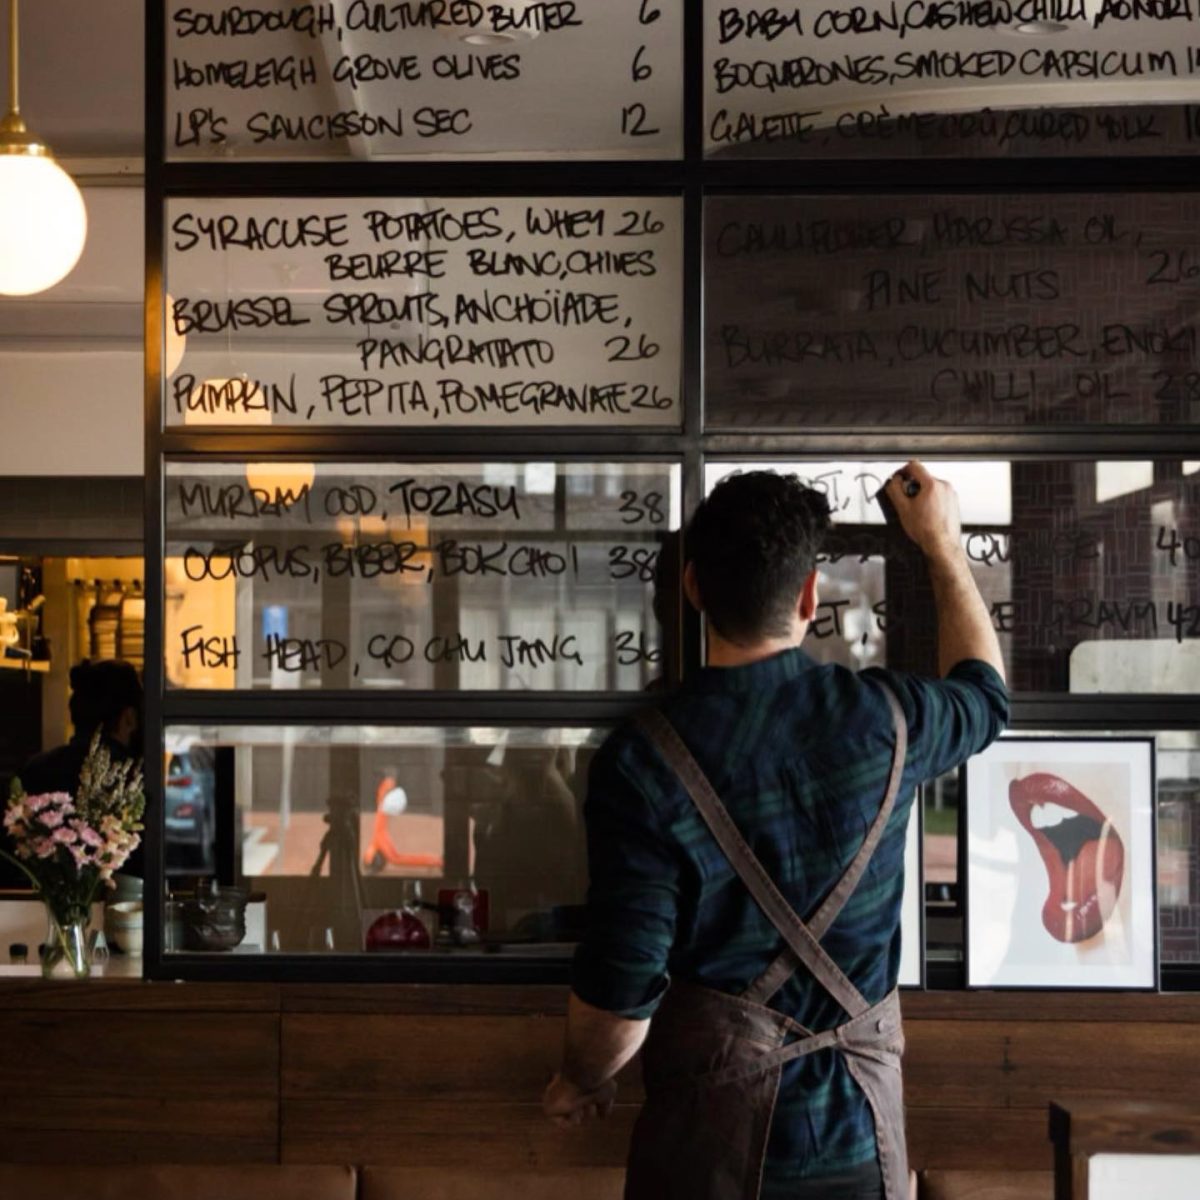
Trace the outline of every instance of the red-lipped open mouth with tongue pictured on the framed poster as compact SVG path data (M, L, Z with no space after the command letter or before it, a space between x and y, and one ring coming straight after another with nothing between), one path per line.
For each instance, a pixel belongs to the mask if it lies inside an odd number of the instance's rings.
M1049 876L1042 924L1060 942L1104 929L1124 882L1124 845L1097 805L1064 779L1039 772L1015 779L1008 803L1038 847Z

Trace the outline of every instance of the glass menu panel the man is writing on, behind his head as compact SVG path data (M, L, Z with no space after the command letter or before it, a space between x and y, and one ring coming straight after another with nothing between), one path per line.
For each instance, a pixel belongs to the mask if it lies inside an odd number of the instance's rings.
M805 648L851 667L936 671L920 552L874 496L900 463L713 463L798 474L829 498L822 604ZM1193 694L1200 680L1200 463L932 462L1014 691Z

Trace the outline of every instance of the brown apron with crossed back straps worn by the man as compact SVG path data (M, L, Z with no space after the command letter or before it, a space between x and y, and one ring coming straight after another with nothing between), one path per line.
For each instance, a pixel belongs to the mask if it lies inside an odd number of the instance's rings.
M845 1057L870 1104L884 1196L908 1195L899 995L893 990L869 1004L821 948L883 836L900 787L908 730L895 696L887 691L887 698L895 750L883 803L845 875L808 922L772 882L671 722L656 710L638 718L785 949L740 996L690 983L667 991L642 1051L647 1098L634 1128L625 1200L757 1200L784 1064L823 1049ZM800 965L850 1015L845 1024L815 1032L767 1007Z

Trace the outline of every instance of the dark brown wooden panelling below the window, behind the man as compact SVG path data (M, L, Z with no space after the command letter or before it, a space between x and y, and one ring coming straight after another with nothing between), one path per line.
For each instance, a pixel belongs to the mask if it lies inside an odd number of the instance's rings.
M503 985L0 979L0 1160L619 1164L640 1097L541 1116L566 994ZM911 992L918 1168L1050 1170L1051 1099L1170 1099L1200 1074L1200 995Z

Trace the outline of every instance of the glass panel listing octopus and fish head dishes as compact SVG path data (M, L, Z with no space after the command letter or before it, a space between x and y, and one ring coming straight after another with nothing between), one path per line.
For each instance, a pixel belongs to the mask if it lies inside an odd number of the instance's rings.
M168 685L637 691L679 492L672 463L170 462Z

